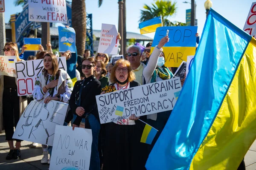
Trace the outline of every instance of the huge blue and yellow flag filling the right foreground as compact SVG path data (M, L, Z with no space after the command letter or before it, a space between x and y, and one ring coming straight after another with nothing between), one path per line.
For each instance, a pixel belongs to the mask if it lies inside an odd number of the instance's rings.
M148 170L236 170L256 138L256 40L214 10Z

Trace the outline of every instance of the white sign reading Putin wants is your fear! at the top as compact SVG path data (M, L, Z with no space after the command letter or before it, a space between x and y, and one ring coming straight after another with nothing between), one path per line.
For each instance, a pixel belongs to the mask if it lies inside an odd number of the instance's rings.
M66 0L29 0L29 21L67 24Z

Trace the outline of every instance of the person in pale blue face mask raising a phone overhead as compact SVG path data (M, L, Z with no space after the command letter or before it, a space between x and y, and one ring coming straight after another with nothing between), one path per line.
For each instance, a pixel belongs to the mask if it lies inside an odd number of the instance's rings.
M163 54L163 46L169 41L169 37L163 37L159 44L154 48L150 59L148 60L147 66L143 70L143 75L145 77L146 83L159 82L166 79L171 79L173 77L172 72L169 68L165 67L165 58ZM147 115L147 122L149 125L153 126L159 132L154 137L153 142L149 145L149 151L152 150L155 142L160 136L167 120L169 119L171 111L165 111L161 113L154 113Z

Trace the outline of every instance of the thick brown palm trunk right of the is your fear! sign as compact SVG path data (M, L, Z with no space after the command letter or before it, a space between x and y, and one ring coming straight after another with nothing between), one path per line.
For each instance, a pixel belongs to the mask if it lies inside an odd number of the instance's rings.
M85 0L72 0L72 27L76 31L77 54L83 56L86 41Z

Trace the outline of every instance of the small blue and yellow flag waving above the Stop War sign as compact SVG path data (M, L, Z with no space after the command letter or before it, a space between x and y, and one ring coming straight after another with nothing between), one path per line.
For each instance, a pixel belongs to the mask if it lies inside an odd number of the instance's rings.
M163 26L162 17L156 17L151 20L144 21L139 23L140 34L146 34L155 32L157 27Z

